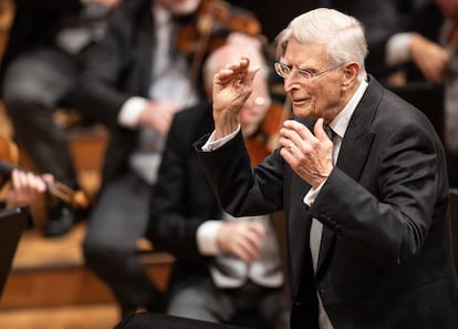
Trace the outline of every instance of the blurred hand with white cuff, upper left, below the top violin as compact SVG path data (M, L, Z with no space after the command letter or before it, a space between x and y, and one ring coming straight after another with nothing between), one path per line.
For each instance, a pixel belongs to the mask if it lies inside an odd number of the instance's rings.
M150 101L138 116L139 126L149 126L167 135L178 107L167 101Z

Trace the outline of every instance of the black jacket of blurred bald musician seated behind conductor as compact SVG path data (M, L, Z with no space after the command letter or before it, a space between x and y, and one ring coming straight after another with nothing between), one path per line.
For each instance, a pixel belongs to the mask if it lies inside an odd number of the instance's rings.
M155 248L176 257L169 288L209 276L208 261L197 247L197 228L222 215L192 143L214 130L208 103L175 115L163 154L147 237Z

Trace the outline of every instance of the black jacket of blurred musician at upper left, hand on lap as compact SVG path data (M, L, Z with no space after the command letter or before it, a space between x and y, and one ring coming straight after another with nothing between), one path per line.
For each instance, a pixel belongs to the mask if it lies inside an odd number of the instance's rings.
M103 40L86 51L75 103L85 117L110 128L104 179L126 169L138 143L139 131L119 126L117 117L129 97L148 97L155 44L152 1L129 0L112 12Z

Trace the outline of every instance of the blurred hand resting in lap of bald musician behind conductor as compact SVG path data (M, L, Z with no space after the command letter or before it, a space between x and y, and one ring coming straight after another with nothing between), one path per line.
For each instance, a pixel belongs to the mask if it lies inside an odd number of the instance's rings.
M259 257L266 237L264 224L260 220L231 220L222 223L217 234L220 250L252 263Z

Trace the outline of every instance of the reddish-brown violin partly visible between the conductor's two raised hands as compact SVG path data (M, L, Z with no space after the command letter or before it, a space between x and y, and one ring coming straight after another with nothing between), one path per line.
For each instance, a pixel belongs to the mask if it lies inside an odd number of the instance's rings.
M251 165L261 163L278 146L280 127L291 116L288 103L273 102L258 131L246 138L244 144L250 154Z

